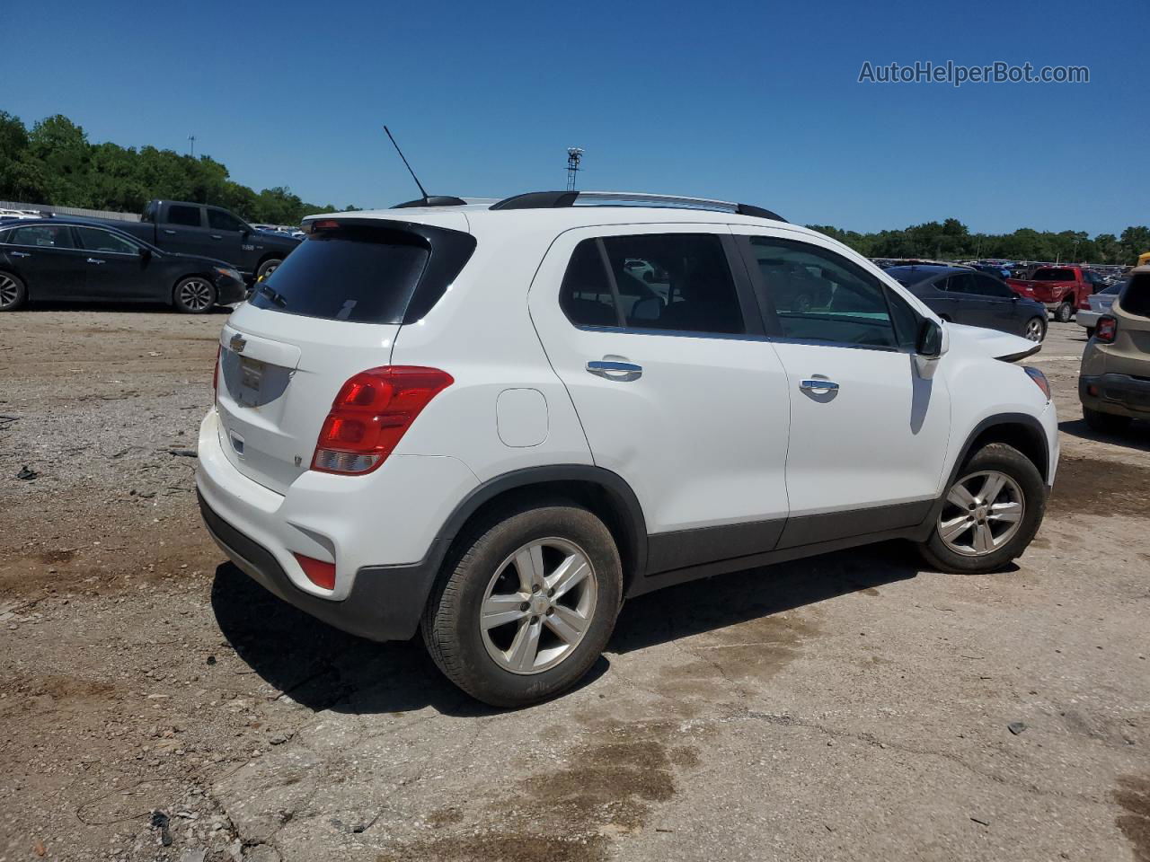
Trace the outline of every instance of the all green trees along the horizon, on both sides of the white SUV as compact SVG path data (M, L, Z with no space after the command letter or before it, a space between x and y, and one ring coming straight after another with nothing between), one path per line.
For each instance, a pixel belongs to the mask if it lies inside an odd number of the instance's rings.
M84 129L56 114L29 130L0 110L0 200L57 207L139 213L153 198L214 203L250 222L299 224L310 213L334 213L331 205L307 203L286 186L256 192L232 180L228 168L201 155L171 149L92 144ZM345 210L356 209L347 206ZM1130 226L1121 236L1086 231L971 233L957 218L926 222L877 233L810 225L867 257L929 257L1063 261L1130 265L1150 252L1150 228Z

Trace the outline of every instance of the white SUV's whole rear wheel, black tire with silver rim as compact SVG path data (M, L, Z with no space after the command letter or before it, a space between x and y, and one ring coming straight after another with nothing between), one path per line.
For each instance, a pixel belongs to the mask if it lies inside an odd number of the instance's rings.
M423 615L443 674L494 707L575 685L599 659L622 602L611 532L568 502L516 507L461 536Z

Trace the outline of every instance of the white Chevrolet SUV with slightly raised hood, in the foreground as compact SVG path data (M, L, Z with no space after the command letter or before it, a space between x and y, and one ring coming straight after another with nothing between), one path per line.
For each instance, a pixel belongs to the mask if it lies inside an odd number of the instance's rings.
M586 672L624 598L896 537L988 571L1038 529L1057 420L1011 364L1038 345L756 207L415 203L307 220L220 340L204 519L305 611L422 630L521 706Z

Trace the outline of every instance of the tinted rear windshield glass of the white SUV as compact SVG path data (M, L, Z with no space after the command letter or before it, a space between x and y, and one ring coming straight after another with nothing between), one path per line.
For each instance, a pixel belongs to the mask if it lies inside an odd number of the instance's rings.
M317 230L256 285L251 303L330 321L411 323L416 309L415 320L443 295L474 245L465 233L436 228Z

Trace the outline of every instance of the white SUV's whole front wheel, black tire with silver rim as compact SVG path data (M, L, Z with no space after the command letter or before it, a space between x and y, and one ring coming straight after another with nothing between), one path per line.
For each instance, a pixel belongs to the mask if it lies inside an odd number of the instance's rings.
M1021 556L1042 524L1046 488L1034 463L1002 442L966 460L919 548L940 571L979 575Z

